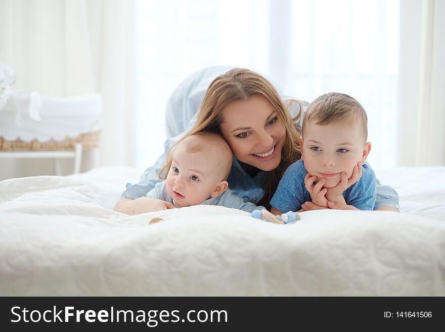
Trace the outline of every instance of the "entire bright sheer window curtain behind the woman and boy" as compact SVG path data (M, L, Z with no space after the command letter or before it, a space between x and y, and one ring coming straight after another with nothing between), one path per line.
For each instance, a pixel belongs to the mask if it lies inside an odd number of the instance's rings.
M398 1L136 1L137 165L162 152L168 97L206 66L247 67L307 102L339 91L369 117L370 162L396 162ZM374 167L375 167L374 166Z

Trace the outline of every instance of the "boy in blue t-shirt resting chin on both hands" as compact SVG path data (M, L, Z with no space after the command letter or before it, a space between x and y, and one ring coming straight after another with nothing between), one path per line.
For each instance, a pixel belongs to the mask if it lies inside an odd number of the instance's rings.
M367 122L362 105L347 94L330 92L312 102L303 121L301 159L284 172L272 213L297 211L307 201L373 210L376 178L365 164L371 151ZM360 171L361 178L350 185L348 179L359 177Z

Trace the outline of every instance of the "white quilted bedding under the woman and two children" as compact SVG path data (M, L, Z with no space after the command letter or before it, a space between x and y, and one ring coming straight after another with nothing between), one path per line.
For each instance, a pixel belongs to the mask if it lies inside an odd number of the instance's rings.
M445 167L376 173L403 213L284 226L215 206L114 212L130 168L5 180L0 295L445 296Z

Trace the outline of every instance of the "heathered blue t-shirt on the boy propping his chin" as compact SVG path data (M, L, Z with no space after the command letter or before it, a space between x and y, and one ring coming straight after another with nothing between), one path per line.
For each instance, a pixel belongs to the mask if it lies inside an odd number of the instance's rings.
M375 173L366 164L362 167L362 177L343 192L343 197L346 204L359 210L373 210L376 200ZM288 212L298 211L304 202L311 201L309 192L304 186L306 174L301 159L290 165L278 184L271 205L280 211Z

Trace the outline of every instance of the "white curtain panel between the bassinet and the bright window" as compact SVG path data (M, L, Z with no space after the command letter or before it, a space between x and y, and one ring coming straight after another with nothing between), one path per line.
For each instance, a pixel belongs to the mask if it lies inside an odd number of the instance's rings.
M101 166L135 166L135 2L83 0L104 101Z

